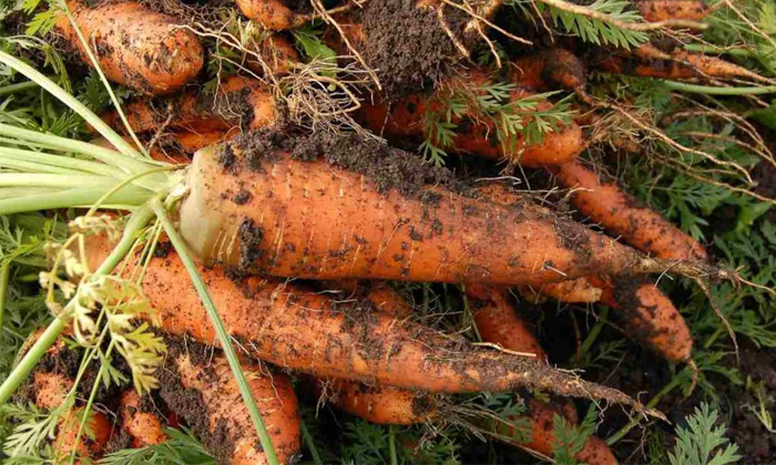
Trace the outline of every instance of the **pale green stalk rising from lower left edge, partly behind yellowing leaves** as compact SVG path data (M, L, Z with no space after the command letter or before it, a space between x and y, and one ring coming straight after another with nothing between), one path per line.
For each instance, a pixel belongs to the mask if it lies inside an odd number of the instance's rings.
M139 208L126 221L124 232L116 247L111 251L108 258L102 262L100 268L94 271L95 275L108 275L113 271L126 252L132 248L136 235L145 225L153 218L153 211L147 207ZM67 308L67 307L65 307ZM13 368L13 371L8 375L6 381L0 384L0 405L4 405L17 389L21 385L24 379L30 374L32 369L38 364L40 359L45 354L45 351L57 341L57 338L62 333L64 328L70 322L70 318L65 312L57 316L43 333L38 338L34 344L24 354L21 361Z

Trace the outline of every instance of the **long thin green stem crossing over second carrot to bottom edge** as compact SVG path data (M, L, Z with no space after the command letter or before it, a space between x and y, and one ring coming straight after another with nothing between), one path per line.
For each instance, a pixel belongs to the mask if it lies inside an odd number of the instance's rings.
M251 413L251 420L253 420L254 426L256 427L256 434L258 434L258 440L262 443L262 448L264 450L264 454L267 457L267 463L269 465L278 465L277 455L275 454L275 447L273 446L272 440L269 438L269 434L267 433L267 428L264 425L264 422L262 421L262 415L259 414L258 407L256 406L256 401L253 399L253 393L251 392L248 380L245 378L245 373L243 373L239 360L237 359L237 354L234 350L234 347L232 345L232 339L226 332L224 322L221 319L221 316L218 314L218 309L215 308L215 303L213 303L213 299L211 298L210 292L207 292L205 281L203 281L202 277L200 276L200 272L196 269L196 264L194 264L194 260L192 260L188 254L188 247L175 229L175 225L173 225L173 223L170 220L170 217L167 217L167 214L164 209L164 205L162 204L162 200L159 197L151 200L151 208L153 209L154 214L156 214L156 218L159 218L159 220L161 221L164 231L167 234L167 238L177 251L177 255L181 258L184 268L188 272L188 277L191 278L192 283L194 285L194 288L196 289L196 292L200 296L200 299L202 300L202 304L207 311L207 316L211 322L213 323L213 327L215 328L215 332L218 335L218 340L221 342L221 348L224 351L224 355L226 356L226 361L228 362L229 368L232 369L232 373L234 374L235 381L237 381L239 393L243 395L243 401L245 402L245 405L248 407L248 412Z

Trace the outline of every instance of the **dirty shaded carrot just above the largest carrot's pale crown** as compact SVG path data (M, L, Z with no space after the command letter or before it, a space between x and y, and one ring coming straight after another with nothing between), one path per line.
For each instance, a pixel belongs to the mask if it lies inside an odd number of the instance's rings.
M194 133L256 130L276 122L277 110L272 94L255 80L232 76L215 94L191 90L159 101L135 100L124 106L135 133L183 130ZM103 120L120 133L125 128L116 112Z

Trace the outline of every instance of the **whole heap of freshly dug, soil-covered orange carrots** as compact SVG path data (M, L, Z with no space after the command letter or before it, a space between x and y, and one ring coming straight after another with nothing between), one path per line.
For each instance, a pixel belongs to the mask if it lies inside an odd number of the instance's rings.
M499 28L491 20L501 3L471 9L442 0L371 0L324 11L317 1L302 8L284 0L237 0L234 8L266 33L259 58L236 65L226 60L234 74L208 80L217 82L208 92L200 84L223 63L205 50L214 33L192 25L194 19L131 1L73 0L57 13L55 30L85 65L99 65L109 81L135 91L123 105L126 121L116 108L101 117L129 144L135 144L130 133L147 144L147 158L122 155L147 170L133 169L135 178L120 185L94 182L104 194L101 206L137 211L164 199L173 224L166 235L151 235L159 241L155 254L135 248L114 271L137 280L153 309L152 317L137 318L166 341L155 373L160 388L142 394L126 385L101 391L113 415L90 412L92 433L76 438L85 403L71 395L74 373L34 371L24 390L29 401L52 412L64 399L72 401L51 438L58 455L85 462L112 452L109 443L156 446L170 441L167 428L183 425L217 463L270 462L242 407L229 368L237 363L222 351L228 348L186 278L184 255L196 261L224 330L242 349L241 369L280 463L303 454L297 391L371 423L405 426L462 415L463 395L517 393L510 399L524 401L523 413L466 422L541 457L555 452L559 417L579 423L563 397L619 403L662 417L623 392L554 368L521 318L547 299L603 304L635 343L694 366L691 331L655 285L656 276L736 277L586 161L585 151L596 143L588 124L604 107L588 94L588 72L706 83L768 80L684 49L647 42L583 53L570 38L552 46L532 38L530 46L510 51L503 62L499 58L500 69L474 65L471 51L493 46L487 31ZM700 21L709 13L694 0L633 0L630 8L655 23ZM312 39L299 38L307 38L309 30L300 28L312 20L324 24L321 38L340 54L341 68L328 61L329 68L310 71L319 56L304 42ZM418 25L404 31L402 21ZM81 37L93 46L84 46ZM226 56L235 51L233 42L216 46ZM361 73L353 71L359 69L354 63L365 66L365 78L350 92L335 78ZM295 80L303 72L305 80ZM294 93L289 85L316 92ZM313 122L289 120L300 107L314 118L330 116L314 102L326 92L333 99L347 94L355 106L343 113L363 127L320 131ZM579 99L568 106L561 97L573 94ZM542 120L559 108L573 113ZM118 135L96 137L106 131L96 118L90 123L100 153L126 151ZM514 127L521 130L510 133ZM431 166L411 152L421 144L464 156L456 157L456 169ZM517 169L542 178L549 198L569 208L539 203L525 192L530 186L518 192L471 176L494 173L497 164L506 178ZM47 197L44 206L91 206L63 202ZM27 211L20 205L8 210ZM170 247L173 230L185 242L178 251ZM103 234L79 244L90 270L115 246ZM468 328L451 334L417 318L415 302L388 281L458 287L470 312ZM73 350L60 339L45 355L47 366L61 368L61 360L76 356L68 351ZM520 431L520 424L529 426ZM616 463L595 436L575 458Z

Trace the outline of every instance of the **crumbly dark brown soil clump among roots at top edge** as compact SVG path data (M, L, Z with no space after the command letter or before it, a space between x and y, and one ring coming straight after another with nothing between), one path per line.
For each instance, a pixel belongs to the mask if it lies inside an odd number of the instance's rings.
M389 100L418 93L429 82L446 75L447 66L460 55L442 29L437 9L419 8L417 3L417 0L370 1L360 13L366 39L359 51L375 70ZM443 12L453 35L464 44L470 42L462 31L471 17L455 8L446 8Z

